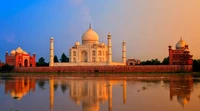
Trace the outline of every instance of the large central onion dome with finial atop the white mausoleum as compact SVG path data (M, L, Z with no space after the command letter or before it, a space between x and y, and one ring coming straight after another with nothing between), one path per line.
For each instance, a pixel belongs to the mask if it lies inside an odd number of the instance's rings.
M92 45L95 42L99 42L99 36L94 30L92 30L90 25L89 29L82 35L82 44Z

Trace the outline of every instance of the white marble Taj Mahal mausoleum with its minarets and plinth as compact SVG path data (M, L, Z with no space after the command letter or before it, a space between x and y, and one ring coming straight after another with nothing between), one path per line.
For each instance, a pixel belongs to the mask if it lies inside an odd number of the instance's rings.
M89 29L82 35L82 44L78 41L69 49L69 62L54 63L54 38L50 38L49 66L116 66L126 65L126 43L122 42L122 62L112 61L112 35L107 35L107 45L99 43L98 34Z

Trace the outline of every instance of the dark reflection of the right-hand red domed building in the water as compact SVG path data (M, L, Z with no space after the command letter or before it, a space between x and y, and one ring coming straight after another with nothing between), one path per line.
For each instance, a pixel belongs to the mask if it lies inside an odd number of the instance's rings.
M170 100L177 96L177 101L184 107L190 101L192 91L192 75L174 76L170 79Z

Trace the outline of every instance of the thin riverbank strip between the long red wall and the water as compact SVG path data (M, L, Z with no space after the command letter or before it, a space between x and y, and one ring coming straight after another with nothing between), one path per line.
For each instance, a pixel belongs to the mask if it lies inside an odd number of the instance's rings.
M2 73L1 78L46 78L51 77L59 79L176 79L177 77L200 78L200 73Z

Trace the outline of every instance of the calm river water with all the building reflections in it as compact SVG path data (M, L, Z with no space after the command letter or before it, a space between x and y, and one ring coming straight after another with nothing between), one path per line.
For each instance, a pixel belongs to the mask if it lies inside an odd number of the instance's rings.
M198 111L200 80L120 77L0 79L0 111Z

